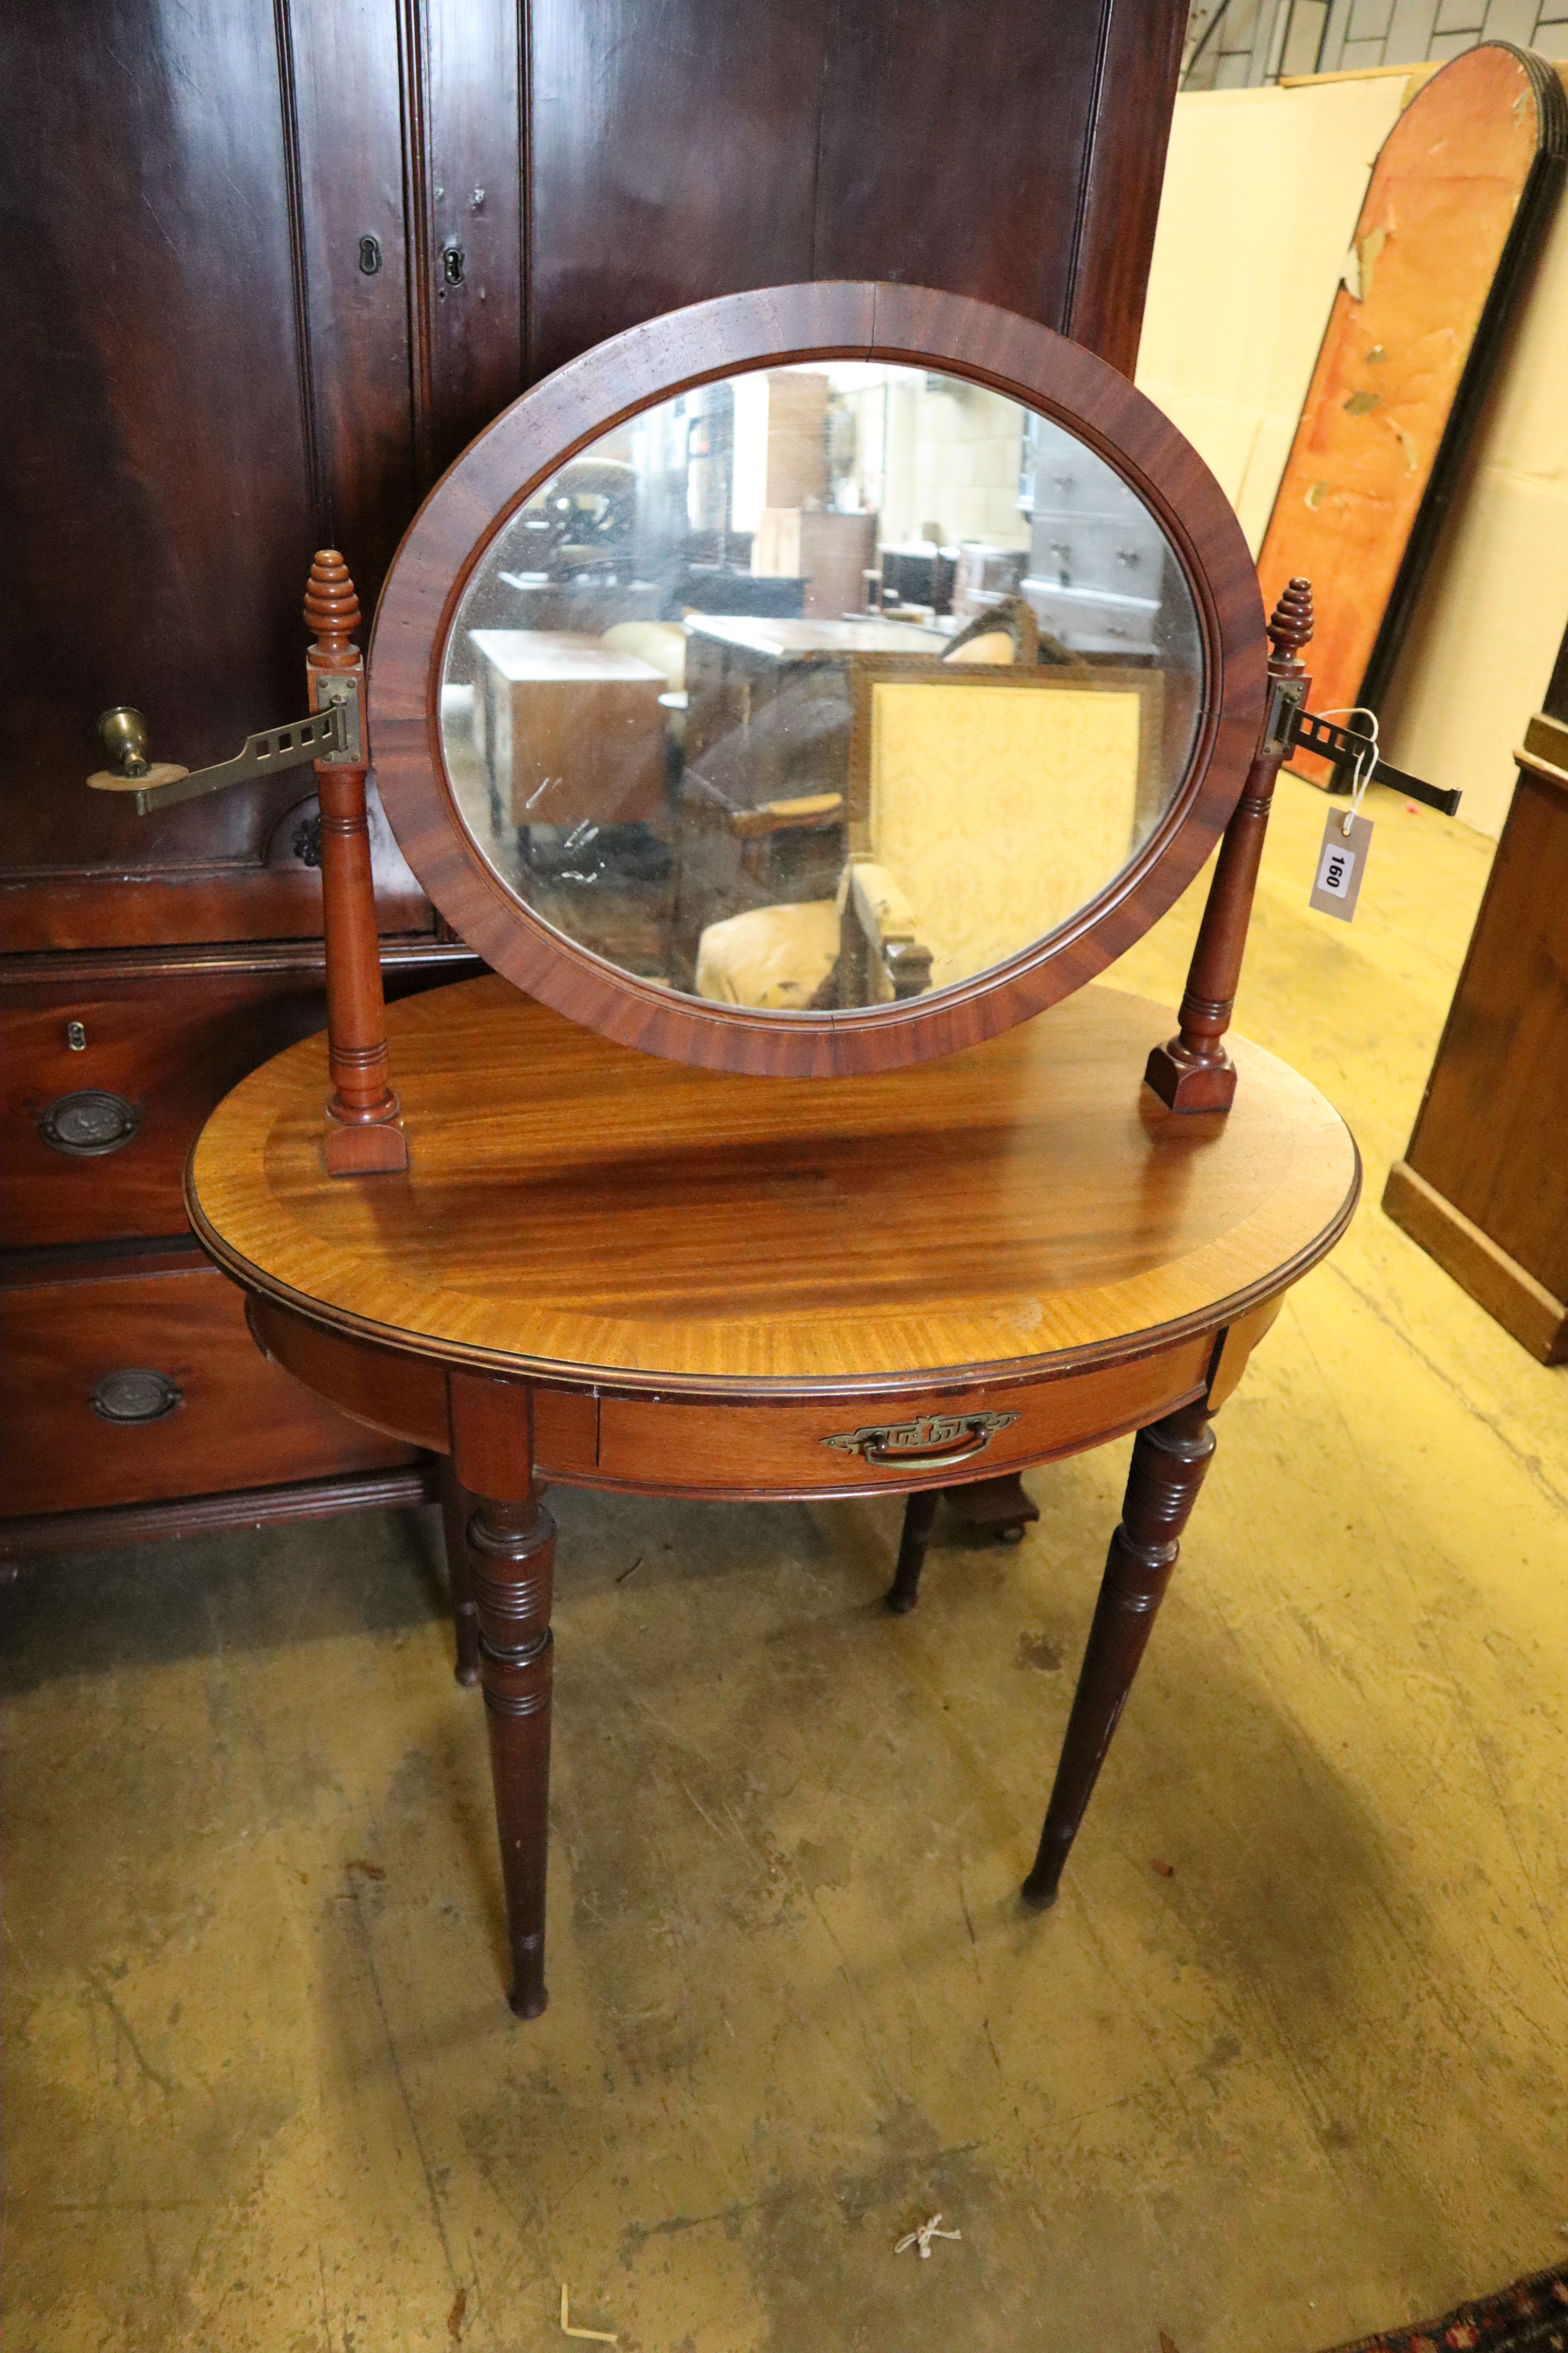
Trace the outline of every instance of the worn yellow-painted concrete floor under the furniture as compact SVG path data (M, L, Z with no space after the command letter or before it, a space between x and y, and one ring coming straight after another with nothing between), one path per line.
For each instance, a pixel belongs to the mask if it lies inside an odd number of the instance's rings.
M1490 845L1373 800L1345 929L1281 786L1244 995L1368 1198L1044 1920L1126 1445L1023 1551L938 1522L907 1621L891 1501L559 1492L527 2028L433 1515L24 1572L14 2353L527 2353L562 2278L632 2353L1305 2353L1568 2254L1568 1379L1378 1209ZM1194 920L1119 979L1173 1000Z

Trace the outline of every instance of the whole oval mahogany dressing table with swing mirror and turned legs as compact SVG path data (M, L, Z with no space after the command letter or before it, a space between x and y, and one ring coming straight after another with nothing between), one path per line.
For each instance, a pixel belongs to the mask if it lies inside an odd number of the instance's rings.
M1218 487L1088 353L813 285L508 409L409 529L369 687L336 555L306 612L313 708L360 711L317 762L331 1024L221 1104L188 1205L280 1365L451 1461L512 2007L545 2005L548 1482L905 1494L907 1609L940 1489L1138 1431L1051 1904L1211 1417L1356 1198L1331 1106L1227 1047L1305 584L1269 654ZM367 741L494 967L390 1014ZM1086 984L1220 835L1166 1040Z

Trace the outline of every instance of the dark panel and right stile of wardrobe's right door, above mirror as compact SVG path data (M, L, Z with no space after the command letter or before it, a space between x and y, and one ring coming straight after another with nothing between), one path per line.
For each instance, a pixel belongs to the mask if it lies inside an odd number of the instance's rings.
M1131 369L1171 0L574 0L529 12L529 381L712 294L896 278Z

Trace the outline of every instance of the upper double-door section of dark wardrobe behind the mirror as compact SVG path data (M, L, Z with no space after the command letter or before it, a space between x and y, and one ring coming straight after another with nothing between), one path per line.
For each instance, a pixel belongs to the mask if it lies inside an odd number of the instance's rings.
M92 899L80 939L282 934L261 859L289 781L150 821L85 805L96 713L141 706L190 767L289 718L310 551L343 546L369 609L435 475L602 336L884 275L1131 367L1182 16L108 0L82 40L61 0L16 9L5 873ZM127 871L188 885L205 929L169 889L106 929Z

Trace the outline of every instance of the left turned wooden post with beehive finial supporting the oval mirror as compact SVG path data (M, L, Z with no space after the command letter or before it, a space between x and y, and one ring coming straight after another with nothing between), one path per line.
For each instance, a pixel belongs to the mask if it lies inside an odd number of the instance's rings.
M357 760L334 755L315 762L315 791L322 807L327 1059L331 1066L327 1174L369 1176L378 1169L407 1169L409 1144L397 1118L386 1052L376 885L364 814L364 664L350 638L350 631L360 626L360 600L336 548L320 548L310 565L306 624L315 631L315 642L306 654L310 708L322 711L348 689L357 708L360 739Z

